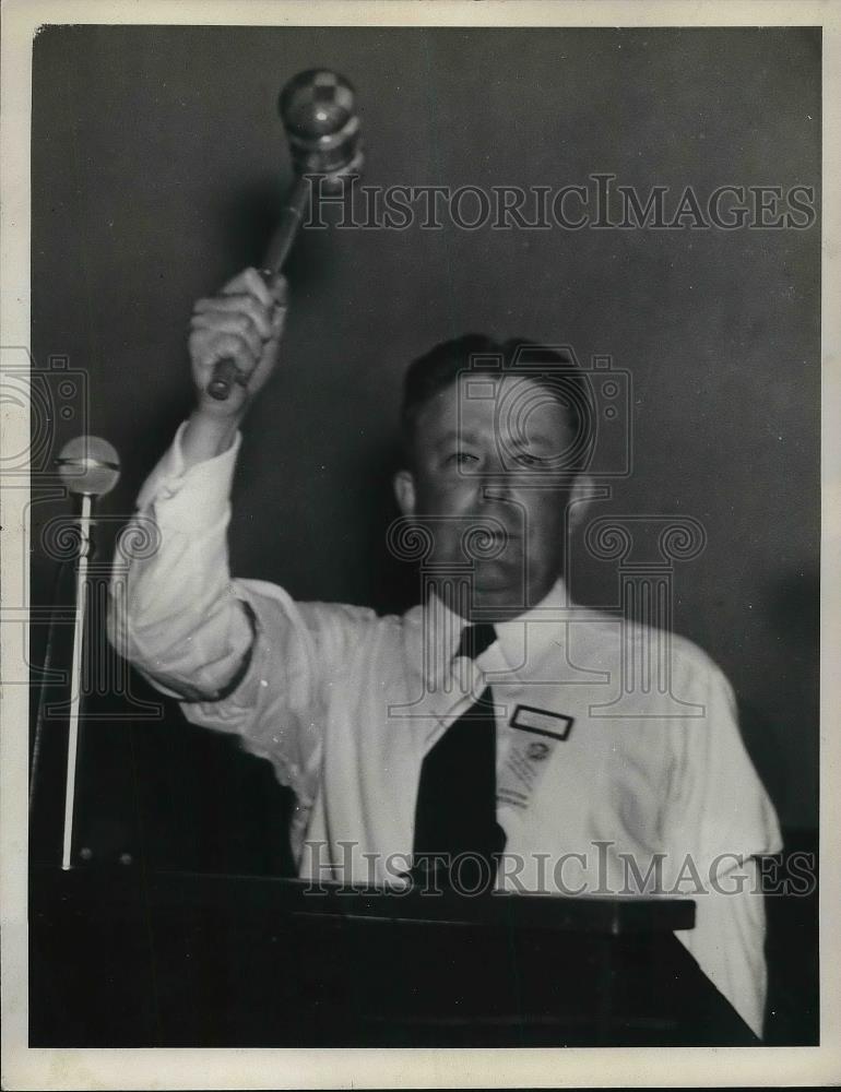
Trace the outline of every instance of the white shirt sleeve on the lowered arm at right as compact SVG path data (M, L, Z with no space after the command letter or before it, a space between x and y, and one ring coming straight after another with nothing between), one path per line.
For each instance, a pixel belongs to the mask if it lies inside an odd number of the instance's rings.
M782 839L742 740L732 687L712 662L694 674L703 716L686 719L677 735L666 829L671 879L689 882L675 893L695 898L696 927L677 935L761 1037L766 915L756 858L779 853Z

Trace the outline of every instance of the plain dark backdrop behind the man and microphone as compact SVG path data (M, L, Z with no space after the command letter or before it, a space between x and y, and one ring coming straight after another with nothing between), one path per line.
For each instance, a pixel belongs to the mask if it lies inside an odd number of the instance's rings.
M34 44L33 356L87 376L90 402L56 415L50 436L87 430L119 449L105 515L131 511L189 408L193 300L260 260L291 177L276 94L313 66L356 86L369 185L557 188L613 171L643 194L668 186L670 204L688 185L702 200L727 183L819 187L815 28L46 27ZM706 550L676 569L675 628L733 681L789 847L814 847L819 247L819 223L305 234L287 266L282 375L248 423L235 574L303 600L402 607L382 538L406 363L466 330L570 343L583 361L609 354L632 375L633 473L592 515L703 524ZM61 510L33 510L35 603L52 569L39 531ZM572 590L616 602L615 569L580 538ZM42 645L36 627L36 665ZM106 714L88 731L81 836L95 855L128 845L176 865L289 867L287 802L268 767L168 707L165 725L126 716L127 731ZM127 799L142 830L119 818ZM781 952L814 939L804 913L771 910ZM809 1019L812 970L798 956L780 986Z

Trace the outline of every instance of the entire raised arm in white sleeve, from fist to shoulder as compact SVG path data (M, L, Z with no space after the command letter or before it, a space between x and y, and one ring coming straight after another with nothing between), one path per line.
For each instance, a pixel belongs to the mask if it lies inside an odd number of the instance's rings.
M118 547L109 634L188 720L239 736L296 794L299 852L317 792L331 680L376 619L362 607L297 603L275 584L232 579L228 500L239 425L271 376L286 285L271 290L246 270L193 311L196 408L153 471ZM208 394L217 360L239 381L227 401ZM145 527L141 524L145 523ZM143 532L147 534L143 534ZM151 545L134 550L132 541Z

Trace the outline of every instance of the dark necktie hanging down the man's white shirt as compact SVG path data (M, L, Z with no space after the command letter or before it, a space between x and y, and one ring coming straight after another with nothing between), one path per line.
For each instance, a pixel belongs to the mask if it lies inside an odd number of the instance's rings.
M457 656L475 660L496 640L488 624L467 626ZM496 722L486 687L453 721L424 759L415 811L413 874L435 868L439 878L462 890L474 890L496 875L495 854L506 835L496 821ZM463 857L455 869L454 858ZM446 857L435 860L436 855Z

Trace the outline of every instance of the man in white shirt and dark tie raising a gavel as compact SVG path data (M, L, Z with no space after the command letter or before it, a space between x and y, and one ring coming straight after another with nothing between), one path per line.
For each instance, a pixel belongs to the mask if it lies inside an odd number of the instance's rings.
M568 600L591 438L580 375L481 337L415 361L392 546L420 557L422 602L402 617L295 603L232 580L226 550L238 429L285 310L285 283L254 270L197 305L197 406L138 502L161 548L132 562L127 596L115 584L111 640L189 720L273 763L297 799L301 876L691 895L680 939L761 1034L754 858L781 847L777 818L710 660ZM238 382L218 402L224 358ZM658 641L667 692L629 687L628 649L644 661Z

